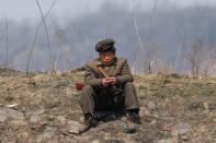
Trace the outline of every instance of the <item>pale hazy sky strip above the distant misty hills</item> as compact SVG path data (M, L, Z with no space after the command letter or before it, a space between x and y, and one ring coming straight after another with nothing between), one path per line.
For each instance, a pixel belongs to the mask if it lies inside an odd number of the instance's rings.
M45 12L52 4L53 0L38 0L43 11ZM150 10L155 0L57 0L53 8L52 14L57 16L70 15L77 16L87 12L96 11L105 1L114 1L121 7L132 9L133 1L141 5L145 10ZM169 4L168 4L169 3ZM175 7L191 7L191 5L214 5L216 0L158 0L159 5L175 5ZM0 17L22 20L25 17L37 19L39 11L37 9L36 0L0 0Z

